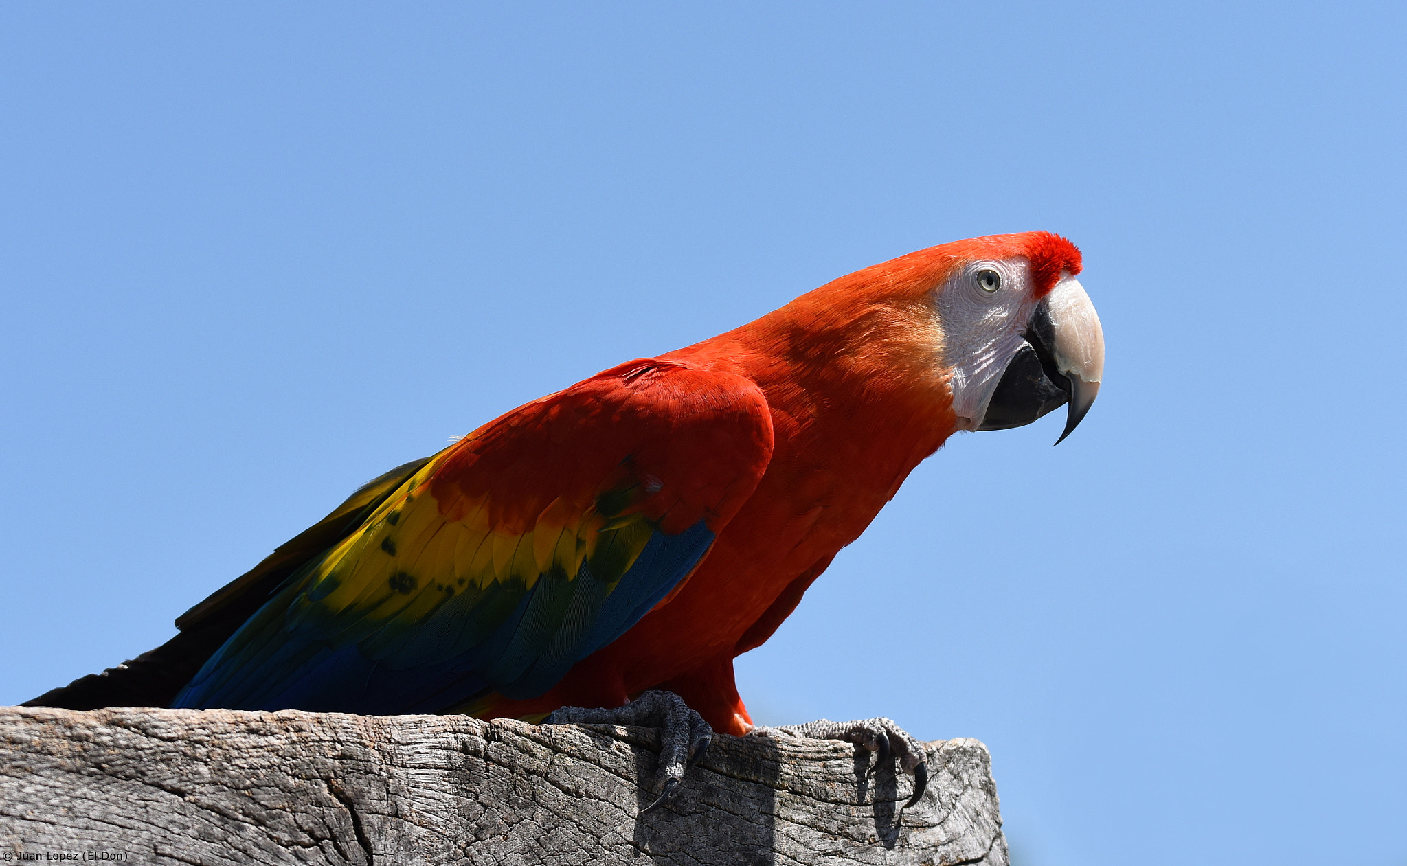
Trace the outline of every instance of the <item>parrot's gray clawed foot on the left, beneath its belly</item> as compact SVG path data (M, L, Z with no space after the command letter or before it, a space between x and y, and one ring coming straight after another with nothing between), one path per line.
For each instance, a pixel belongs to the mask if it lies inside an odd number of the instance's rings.
M704 759L713 728L674 692L644 692L623 707L561 707L543 724L629 724L664 728L660 737L660 799L640 810L651 813L670 800L684 782L684 770Z

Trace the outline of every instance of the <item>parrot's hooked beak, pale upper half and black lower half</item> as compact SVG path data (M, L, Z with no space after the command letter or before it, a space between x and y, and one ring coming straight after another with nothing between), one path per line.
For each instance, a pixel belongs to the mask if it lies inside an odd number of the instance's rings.
M1095 405L1104 375L1104 332L1079 280L1064 277L1055 284L1036 305L1024 336L978 430L1020 427L1068 403L1059 444Z

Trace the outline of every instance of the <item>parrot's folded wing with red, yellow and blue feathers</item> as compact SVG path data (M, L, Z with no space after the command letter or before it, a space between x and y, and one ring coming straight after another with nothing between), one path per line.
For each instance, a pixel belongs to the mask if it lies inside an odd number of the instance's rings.
M174 706L415 713L540 694L692 574L771 446L757 385L674 361L521 406L294 572Z

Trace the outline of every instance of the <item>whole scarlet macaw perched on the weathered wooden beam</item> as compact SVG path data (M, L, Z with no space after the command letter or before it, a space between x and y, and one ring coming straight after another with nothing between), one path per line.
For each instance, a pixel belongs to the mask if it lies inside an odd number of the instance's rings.
M667 730L666 803L715 732L922 752L888 718L753 724L733 659L958 432L1103 377L1082 256L1050 232L931 246L626 361L397 467L176 620L31 706L464 713Z

